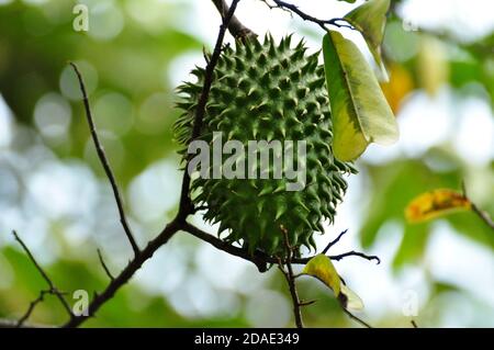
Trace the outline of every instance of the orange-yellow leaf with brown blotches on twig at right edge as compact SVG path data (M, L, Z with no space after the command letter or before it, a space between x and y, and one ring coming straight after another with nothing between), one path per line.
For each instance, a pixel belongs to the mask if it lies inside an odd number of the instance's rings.
M420 223L471 207L472 204L463 194L439 189L415 197L406 207L405 217L409 223Z

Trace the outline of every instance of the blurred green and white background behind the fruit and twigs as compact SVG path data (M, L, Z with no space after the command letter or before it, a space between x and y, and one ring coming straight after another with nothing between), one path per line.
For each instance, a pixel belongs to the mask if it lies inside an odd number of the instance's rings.
M293 0L321 18L356 4ZM76 32L76 3L89 7L89 32ZM239 19L276 38L304 36L311 50L322 32L259 0L243 0ZM68 60L87 81L96 123L124 191L131 225L144 245L177 211L181 173L171 125L175 88L204 65L220 18L206 0L0 0L0 317L16 318L44 282L13 241L16 229L64 291L90 294L108 282L100 248L117 273L132 251L89 138ZM366 45L351 31L362 50ZM409 225L404 208L436 188L459 189L494 213L494 4L490 0L392 1L383 86L401 139L371 146L360 173L321 246L348 234L333 252L362 249L381 264L347 258L336 268L373 326L493 327L494 233L472 213ZM232 37L227 38L232 42ZM369 53L366 55L370 57ZM194 217L198 225L211 233ZM332 293L301 279L312 327L356 327ZM417 314L411 315L416 304ZM32 321L60 324L47 298ZM85 324L99 326L284 327L292 325L287 285L277 269L216 251L187 234L162 247L131 284Z

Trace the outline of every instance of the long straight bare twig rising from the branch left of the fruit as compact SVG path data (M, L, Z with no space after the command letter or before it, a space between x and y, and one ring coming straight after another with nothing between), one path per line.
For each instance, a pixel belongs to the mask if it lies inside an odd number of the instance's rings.
M81 76L77 65L74 63L70 63L70 66L72 66L75 72L77 75L77 79L79 80L79 87L80 87L80 91L82 93L82 99L83 99L85 109L86 109L86 117L88 120L89 129L91 132L91 137L94 143L94 147L97 149L98 157L100 158L101 165L103 166L106 178L110 180L110 184L113 190L113 196L115 197L116 206L119 207L120 222L122 223L122 226L125 232L125 235L127 236L128 242L131 244L132 249L134 250L134 255L137 256L139 253L139 247L137 246L135 238L131 232L131 227L128 226L127 218L125 216L124 206L123 206L123 201L120 195L120 191L119 191L119 187L116 184L115 177L113 174L110 162L108 161L108 158L104 153L103 146L100 142L100 138L98 137L98 133L97 133L96 125L94 125L94 120L93 120L92 113L91 113L91 108L89 105L88 94L86 92L85 81L82 79L82 76Z

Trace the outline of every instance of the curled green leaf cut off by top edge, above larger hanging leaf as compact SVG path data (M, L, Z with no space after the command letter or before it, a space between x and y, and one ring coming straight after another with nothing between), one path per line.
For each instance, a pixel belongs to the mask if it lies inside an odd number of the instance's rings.
M345 20L357 29L366 39L383 80L388 80L388 72L381 58L381 44L389 9L390 0L369 0L345 15Z

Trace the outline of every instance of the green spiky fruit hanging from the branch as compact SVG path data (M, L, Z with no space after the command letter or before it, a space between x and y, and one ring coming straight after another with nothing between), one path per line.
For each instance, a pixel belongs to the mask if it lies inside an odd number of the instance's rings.
M212 146L213 133L221 132L224 142L235 139L246 147L249 140L305 140L305 187L287 191L287 179L272 177L192 180L194 204L205 207L206 221L220 223L218 234L226 230L227 241L281 257L287 251L283 227L291 246L314 247L313 234L323 232L325 218L333 222L347 188L343 174L355 172L351 165L333 157L329 102L318 53L307 56L303 42L296 47L290 42L290 36L279 45L271 37L263 44L254 38L223 50L199 138ZM205 71L197 68L192 74L198 81L179 88L186 95L179 103L184 113L176 123L177 138L186 146Z

